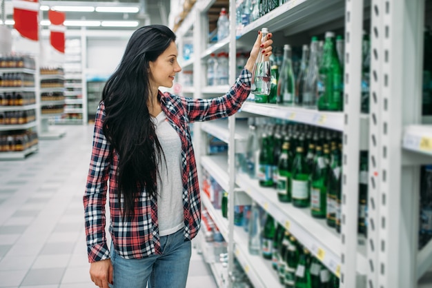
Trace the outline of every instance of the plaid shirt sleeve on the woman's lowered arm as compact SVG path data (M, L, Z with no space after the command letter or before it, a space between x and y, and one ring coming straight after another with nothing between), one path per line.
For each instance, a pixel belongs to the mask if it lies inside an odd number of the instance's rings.
M87 251L90 263L110 258L105 235L105 203L108 190L110 147L102 130L104 118L105 105L101 103L97 108L90 169L88 170L86 191L83 197Z

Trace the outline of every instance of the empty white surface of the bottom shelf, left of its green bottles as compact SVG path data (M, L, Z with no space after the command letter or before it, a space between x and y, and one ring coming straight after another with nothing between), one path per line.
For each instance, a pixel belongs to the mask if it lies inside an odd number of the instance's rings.
M261 255L249 254L248 234L242 227L234 226L234 242L234 254L254 287L284 287L279 283L271 260L266 260Z

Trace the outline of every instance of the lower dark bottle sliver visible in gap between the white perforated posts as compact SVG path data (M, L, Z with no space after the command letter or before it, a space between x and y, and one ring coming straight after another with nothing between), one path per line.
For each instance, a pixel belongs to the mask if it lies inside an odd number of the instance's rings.
M359 176L359 212L358 233L366 236L366 212L368 199L368 152L360 151L360 176Z

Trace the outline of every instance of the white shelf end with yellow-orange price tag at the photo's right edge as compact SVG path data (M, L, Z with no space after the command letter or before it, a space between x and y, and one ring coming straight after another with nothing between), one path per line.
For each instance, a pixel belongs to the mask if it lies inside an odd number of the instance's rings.
M402 147L432 156L432 125L409 125L405 127Z

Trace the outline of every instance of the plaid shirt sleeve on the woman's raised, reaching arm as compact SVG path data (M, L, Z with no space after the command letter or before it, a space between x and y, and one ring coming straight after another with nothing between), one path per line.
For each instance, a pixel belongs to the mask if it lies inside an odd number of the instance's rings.
M189 121L208 121L235 114L251 92L251 81L252 73L244 69L224 96L213 99L183 98Z

